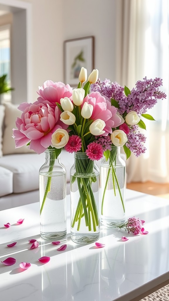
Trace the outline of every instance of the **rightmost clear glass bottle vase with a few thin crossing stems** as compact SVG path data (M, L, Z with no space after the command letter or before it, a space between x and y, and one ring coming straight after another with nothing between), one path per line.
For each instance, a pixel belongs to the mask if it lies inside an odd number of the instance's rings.
M109 159L100 163L102 225L114 227L125 221L125 175L120 147L112 146Z

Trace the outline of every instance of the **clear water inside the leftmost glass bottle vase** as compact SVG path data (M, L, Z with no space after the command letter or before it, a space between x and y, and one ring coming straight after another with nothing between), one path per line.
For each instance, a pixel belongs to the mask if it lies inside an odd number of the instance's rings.
M39 174L40 208L45 194L48 178L51 178L50 191L47 194L40 216L41 237L60 239L66 234L66 175L62 172L41 172Z

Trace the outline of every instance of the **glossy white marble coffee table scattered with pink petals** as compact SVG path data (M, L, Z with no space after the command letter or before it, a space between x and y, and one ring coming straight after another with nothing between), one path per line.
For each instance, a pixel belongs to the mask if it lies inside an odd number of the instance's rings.
M70 239L68 213L68 234L61 240L67 249L62 252L40 238L38 203L0 211L0 261L16 259L12 266L0 262L0 300L140 300L169 283L169 200L127 190L126 207L127 218L146 221L148 235L132 237L102 226L98 241L104 248L96 248L95 243L78 245ZM21 218L23 224L16 225ZM7 222L10 228L3 226ZM123 235L129 240L122 242ZM30 238L38 240L37 249L29 250ZM7 247L12 241L17 244ZM51 260L41 264L38 258L44 255ZM21 270L20 262L30 262L31 267Z

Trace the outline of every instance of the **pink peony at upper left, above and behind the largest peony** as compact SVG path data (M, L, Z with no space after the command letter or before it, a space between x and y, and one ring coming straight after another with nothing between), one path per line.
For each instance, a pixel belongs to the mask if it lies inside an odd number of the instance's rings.
M50 107L56 107L56 102L60 104L60 99L64 97L72 97L72 88L69 84L65 85L63 82L52 82L47 80L43 86L39 86L37 91L40 97L37 98L41 104L49 104Z

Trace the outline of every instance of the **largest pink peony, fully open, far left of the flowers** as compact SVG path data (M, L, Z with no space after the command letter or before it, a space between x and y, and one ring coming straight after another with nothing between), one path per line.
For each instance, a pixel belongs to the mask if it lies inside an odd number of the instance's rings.
M34 104L24 102L18 107L23 111L17 118L17 129L13 129L15 147L21 147L30 141L29 148L37 154L43 153L51 145L51 136L56 129L66 129L67 125L60 121L60 110L48 104L45 106L36 101Z

